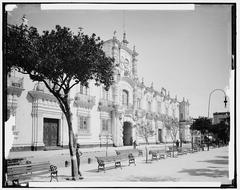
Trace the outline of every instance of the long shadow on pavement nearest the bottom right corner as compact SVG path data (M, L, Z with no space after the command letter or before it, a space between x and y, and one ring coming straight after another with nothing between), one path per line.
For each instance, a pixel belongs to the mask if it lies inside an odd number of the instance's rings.
M213 178L228 176L227 170L218 169L183 169L179 173L188 173L191 176L205 176Z

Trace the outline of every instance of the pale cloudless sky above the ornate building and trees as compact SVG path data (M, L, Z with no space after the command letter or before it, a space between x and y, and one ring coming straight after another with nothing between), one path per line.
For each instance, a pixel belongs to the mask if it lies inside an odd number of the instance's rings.
M29 25L39 31L59 24L76 32L96 33L102 40L114 30L122 40L126 31L128 46L136 46L138 75L145 84L162 87L190 102L192 117L207 116L208 97L213 89L225 90L231 66L230 5L197 5L193 11L160 10L41 10L40 5L18 5L8 23L19 24L26 14ZM210 116L224 108L224 95L212 95Z

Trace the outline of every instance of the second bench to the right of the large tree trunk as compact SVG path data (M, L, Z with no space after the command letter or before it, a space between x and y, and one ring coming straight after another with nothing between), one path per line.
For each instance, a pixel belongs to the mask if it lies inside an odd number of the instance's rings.
M125 149L125 150L116 150L116 154L119 156L121 160L128 159L128 165L135 164L136 160L135 157L143 155L142 150L139 149Z

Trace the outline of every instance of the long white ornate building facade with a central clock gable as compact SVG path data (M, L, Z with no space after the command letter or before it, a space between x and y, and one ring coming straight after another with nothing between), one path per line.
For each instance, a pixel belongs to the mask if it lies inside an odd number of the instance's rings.
M70 92L73 130L82 147L102 145L128 146L133 141L145 143L138 125L147 121L154 135L151 144L172 142L166 119L177 119L177 139L191 141L189 102L170 96L166 89L157 91L138 79L138 53L128 47L126 34L104 42L103 50L115 59L114 84L103 86L80 84ZM12 150L42 150L68 147L68 127L57 100L44 84L32 82L27 75L11 73L7 79L7 109L14 141Z

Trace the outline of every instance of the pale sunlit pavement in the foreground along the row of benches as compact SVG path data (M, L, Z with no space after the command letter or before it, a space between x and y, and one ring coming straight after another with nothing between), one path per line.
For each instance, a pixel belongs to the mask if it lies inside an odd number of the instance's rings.
M193 154L166 158L145 163L145 157L138 157L136 166L115 169L114 164L107 167L106 172L97 172L97 163L82 164L83 182L221 182L229 184L228 180L228 147L210 149ZM68 182L71 176L70 167L60 167L59 181ZM49 175L32 179L35 182L48 182ZM41 183L40 183L41 184ZM52 183L54 185L57 183ZM80 185L79 184L79 185Z

